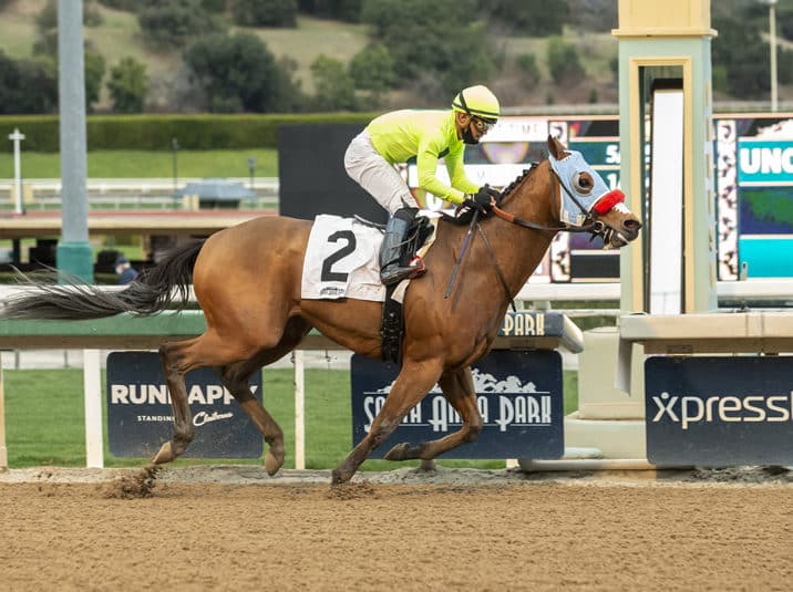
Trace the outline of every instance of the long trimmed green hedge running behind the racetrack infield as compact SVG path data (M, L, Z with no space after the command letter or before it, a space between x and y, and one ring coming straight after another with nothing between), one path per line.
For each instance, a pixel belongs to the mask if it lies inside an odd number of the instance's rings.
M364 126L372 113L312 113L280 115L96 115L89 116L89 150L169 150L172 138L187 150L276 148L284 124L353 123ZM0 138L18 127L25 136L23 150L59 152L56 115L0 116ZM0 142L0 152L12 143Z

